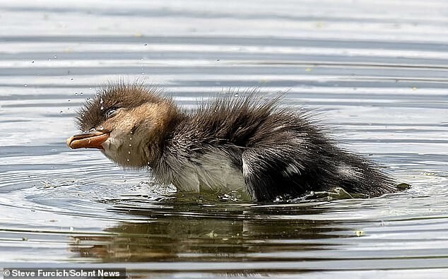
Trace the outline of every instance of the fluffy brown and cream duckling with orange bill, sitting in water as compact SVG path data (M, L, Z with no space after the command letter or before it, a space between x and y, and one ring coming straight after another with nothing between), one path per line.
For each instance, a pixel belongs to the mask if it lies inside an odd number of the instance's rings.
M98 148L122 167L146 168L178 191L242 191L253 201L341 187L379 196L392 179L359 155L339 148L307 112L280 98L217 97L179 108L158 88L118 83L79 110L85 131L70 148Z

